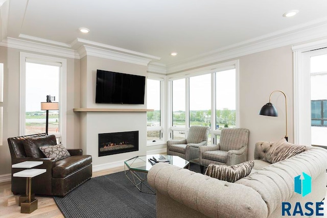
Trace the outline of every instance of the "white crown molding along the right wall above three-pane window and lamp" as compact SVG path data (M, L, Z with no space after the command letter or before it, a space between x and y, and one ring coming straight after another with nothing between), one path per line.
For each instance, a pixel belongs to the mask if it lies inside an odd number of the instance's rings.
M168 65L167 74L324 37L327 37L326 17Z

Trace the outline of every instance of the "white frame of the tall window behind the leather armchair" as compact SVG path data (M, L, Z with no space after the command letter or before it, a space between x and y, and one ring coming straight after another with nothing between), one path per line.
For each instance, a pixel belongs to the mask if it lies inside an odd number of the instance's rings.
M46 65L60 66L59 72L59 133L51 133L56 136L58 143L66 146L66 75L67 60L45 55L20 52L20 69L19 69L19 135L25 135L26 129L26 63L39 63ZM46 95L44 96L44 98Z

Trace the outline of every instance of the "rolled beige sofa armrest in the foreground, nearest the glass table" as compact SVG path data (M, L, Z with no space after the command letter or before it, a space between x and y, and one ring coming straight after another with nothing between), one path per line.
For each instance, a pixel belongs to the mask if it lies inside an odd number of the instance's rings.
M266 203L253 188L214 179L171 164L157 163L152 166L148 182L159 193L157 208L162 208L161 204L176 205L178 208L173 211L176 216L177 213L190 211L190 208L209 217L259 218L268 215ZM164 196L167 201L162 201L160 196ZM166 208L172 210L169 206ZM164 217L165 212L157 210L157 217Z

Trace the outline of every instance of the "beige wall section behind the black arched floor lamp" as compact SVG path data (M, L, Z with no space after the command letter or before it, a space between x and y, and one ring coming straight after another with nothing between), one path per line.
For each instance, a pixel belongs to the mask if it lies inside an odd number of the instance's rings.
M271 103L278 117L259 115L274 90L286 93L288 103L288 137L293 132L293 53L291 46L255 53L240 60L240 127L250 130L248 159L253 159L254 144L259 140L276 141L285 136L285 98L280 92Z

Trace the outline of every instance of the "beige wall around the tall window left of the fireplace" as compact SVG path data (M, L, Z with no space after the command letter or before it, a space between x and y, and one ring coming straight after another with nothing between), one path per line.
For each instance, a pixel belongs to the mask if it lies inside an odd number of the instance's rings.
M0 176L11 173L11 158L7 138L19 135L19 52L0 46L0 62L4 63L3 146L0 146ZM37 53L49 56L46 54ZM60 57L62 58L62 57ZM67 148L79 148L79 114L73 108L80 103L80 60L67 60ZM1 179L1 178L0 178Z

